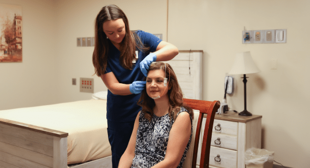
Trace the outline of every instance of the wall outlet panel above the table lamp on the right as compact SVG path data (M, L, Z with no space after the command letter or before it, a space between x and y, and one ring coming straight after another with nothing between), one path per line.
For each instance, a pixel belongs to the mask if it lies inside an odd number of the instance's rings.
M242 43L286 43L286 29L242 31Z

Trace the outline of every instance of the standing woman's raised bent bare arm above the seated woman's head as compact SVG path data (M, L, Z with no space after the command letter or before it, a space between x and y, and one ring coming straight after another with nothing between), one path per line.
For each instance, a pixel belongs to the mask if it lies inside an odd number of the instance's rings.
M161 41L158 44L154 54L157 57L156 61L169 61L179 54L179 50L173 44L166 41Z

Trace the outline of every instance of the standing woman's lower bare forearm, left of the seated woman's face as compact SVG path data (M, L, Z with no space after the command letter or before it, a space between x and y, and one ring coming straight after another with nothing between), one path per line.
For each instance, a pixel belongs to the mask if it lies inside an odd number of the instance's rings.
M122 84L116 79L113 72L102 74L101 79L105 86L113 93L117 95L129 95L132 94L129 90L130 84Z

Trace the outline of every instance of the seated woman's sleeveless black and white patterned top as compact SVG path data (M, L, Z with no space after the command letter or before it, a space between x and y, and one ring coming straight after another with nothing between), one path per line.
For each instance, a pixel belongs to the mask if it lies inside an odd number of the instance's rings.
M184 107L181 107L177 115L183 111L187 110ZM192 118L190 118L190 120L192 123ZM173 119L171 119L170 122L169 114L160 117L154 114L149 122L148 119L144 118L144 113L141 111L139 116L139 127L137 130L135 158L132 160L131 168L148 168L164 160L168 145L169 132L173 123ZM193 128L191 129L191 135L178 168L183 166L192 133Z

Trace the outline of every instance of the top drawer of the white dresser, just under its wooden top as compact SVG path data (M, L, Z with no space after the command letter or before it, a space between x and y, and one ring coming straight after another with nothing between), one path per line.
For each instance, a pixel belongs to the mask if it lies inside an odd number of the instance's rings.
M212 132L223 133L229 135L238 135L238 123L214 119Z

